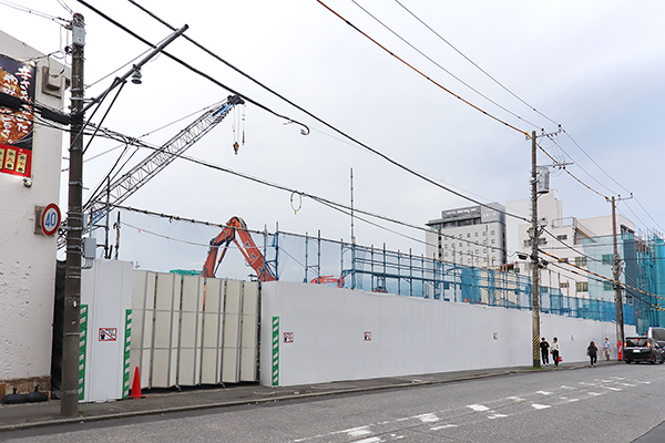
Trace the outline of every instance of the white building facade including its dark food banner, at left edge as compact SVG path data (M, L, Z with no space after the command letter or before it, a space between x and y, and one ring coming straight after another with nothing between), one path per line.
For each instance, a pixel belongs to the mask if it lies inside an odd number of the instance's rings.
M0 31L1 92L60 110L66 75L69 69ZM39 214L59 204L62 131L29 111L0 112L0 391L48 391L57 239L41 231Z

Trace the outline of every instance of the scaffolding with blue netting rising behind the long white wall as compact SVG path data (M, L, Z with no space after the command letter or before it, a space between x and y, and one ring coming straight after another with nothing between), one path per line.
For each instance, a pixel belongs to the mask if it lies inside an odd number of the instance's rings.
M426 258L409 251L360 246L275 233L264 235L266 261L283 281L319 282L340 288L388 292L451 302L531 310L531 279L515 272ZM615 321L614 301L564 296L540 288L541 312ZM633 305L624 305L624 323L635 324Z

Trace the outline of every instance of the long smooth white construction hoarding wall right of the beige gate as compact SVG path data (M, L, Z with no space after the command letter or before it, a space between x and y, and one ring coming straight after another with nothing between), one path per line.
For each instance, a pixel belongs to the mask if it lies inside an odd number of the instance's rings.
M543 337L559 337L564 361L585 361L590 340L614 338L614 323L541 321ZM532 364L530 311L275 281L263 284L262 324L264 385L275 384L275 358L278 385ZM285 332L293 342L284 342Z

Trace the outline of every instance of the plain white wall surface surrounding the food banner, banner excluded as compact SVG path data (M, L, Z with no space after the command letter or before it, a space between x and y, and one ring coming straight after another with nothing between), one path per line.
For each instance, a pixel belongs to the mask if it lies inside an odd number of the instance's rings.
M42 55L3 32L0 52L21 60ZM41 92L45 63L37 62L35 96L60 109L61 99ZM62 65L51 61L51 68L60 72ZM33 134L32 187L20 176L0 174L0 382L10 385L51 373L57 246L54 237L34 234L34 206L59 203L62 133L34 125Z

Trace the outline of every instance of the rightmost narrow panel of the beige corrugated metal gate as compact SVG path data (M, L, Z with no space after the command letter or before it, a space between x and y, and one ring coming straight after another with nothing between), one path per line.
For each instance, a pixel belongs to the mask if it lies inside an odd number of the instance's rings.
M255 381L258 356L258 284L245 282L241 334L241 381Z

